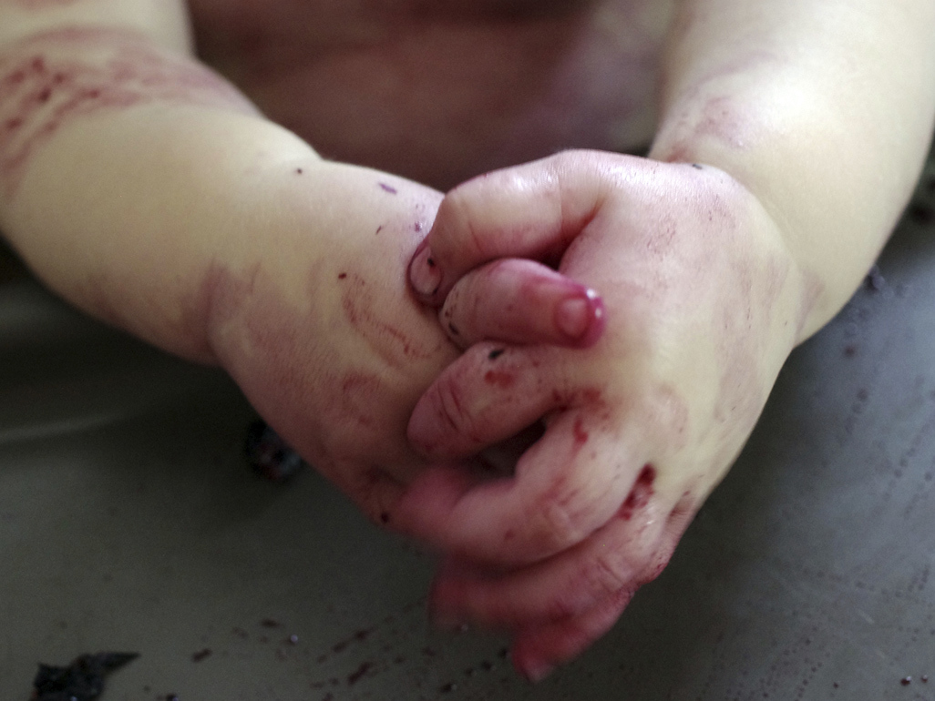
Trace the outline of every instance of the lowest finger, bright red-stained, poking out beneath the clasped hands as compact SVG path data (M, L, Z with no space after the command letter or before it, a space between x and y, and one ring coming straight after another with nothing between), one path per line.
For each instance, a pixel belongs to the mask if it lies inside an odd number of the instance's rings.
M621 590L583 614L521 631L513 640L513 667L530 681L543 680L611 630L632 596Z

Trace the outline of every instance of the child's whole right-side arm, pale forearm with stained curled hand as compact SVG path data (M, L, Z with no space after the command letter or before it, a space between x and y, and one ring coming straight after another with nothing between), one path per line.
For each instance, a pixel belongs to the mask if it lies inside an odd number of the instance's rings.
M929 0L685 2L650 159L570 152L446 197L410 278L460 343L522 307L497 273L516 262L496 260L519 256L602 293L607 326L588 350L479 343L420 401L410 436L439 460L546 424L515 479L439 468L402 502L410 533L458 561L441 619L510 630L538 678L659 573L788 352L904 207L935 114L933 36ZM555 311L528 309L537 337ZM464 564L479 561L495 566Z

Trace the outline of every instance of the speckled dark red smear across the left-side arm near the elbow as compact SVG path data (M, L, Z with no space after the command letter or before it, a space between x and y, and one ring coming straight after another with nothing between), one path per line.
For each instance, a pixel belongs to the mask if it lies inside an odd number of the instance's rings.
M0 185L15 193L36 150L65 125L153 102L256 113L207 67L136 32L70 27L12 45L0 52Z

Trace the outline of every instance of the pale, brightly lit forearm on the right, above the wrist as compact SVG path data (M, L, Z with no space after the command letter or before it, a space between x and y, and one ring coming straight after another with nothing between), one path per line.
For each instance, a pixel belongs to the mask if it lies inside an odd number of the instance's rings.
M935 114L928 0L686 0L650 156L719 167L767 208L811 335L854 292L918 178Z

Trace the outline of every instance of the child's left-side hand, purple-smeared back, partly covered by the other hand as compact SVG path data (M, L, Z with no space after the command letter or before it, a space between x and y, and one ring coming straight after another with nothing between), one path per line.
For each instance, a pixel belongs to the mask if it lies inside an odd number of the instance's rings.
M402 485L425 465L406 440L411 410L457 355L406 282L440 195L333 164L274 168L262 181L268 192L253 193L238 222L248 236L229 237L196 314L266 421L370 518L388 522ZM257 204L267 195L274 207Z

